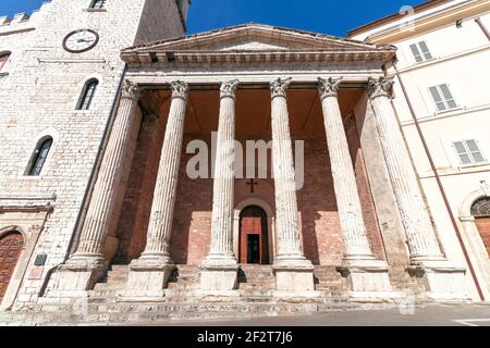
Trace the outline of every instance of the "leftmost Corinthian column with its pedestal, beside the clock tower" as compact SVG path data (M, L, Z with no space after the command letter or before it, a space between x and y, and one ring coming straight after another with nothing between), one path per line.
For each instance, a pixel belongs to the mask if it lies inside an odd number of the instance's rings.
M127 174L122 166L125 160L131 163L136 147L140 123L139 113L135 112L138 99L139 88L125 80L78 247L70 260L59 268L62 274L59 276L58 289L87 290L103 274L103 247L109 234L110 219L118 208L117 197L123 189L121 184ZM70 274L71 272L73 273Z

